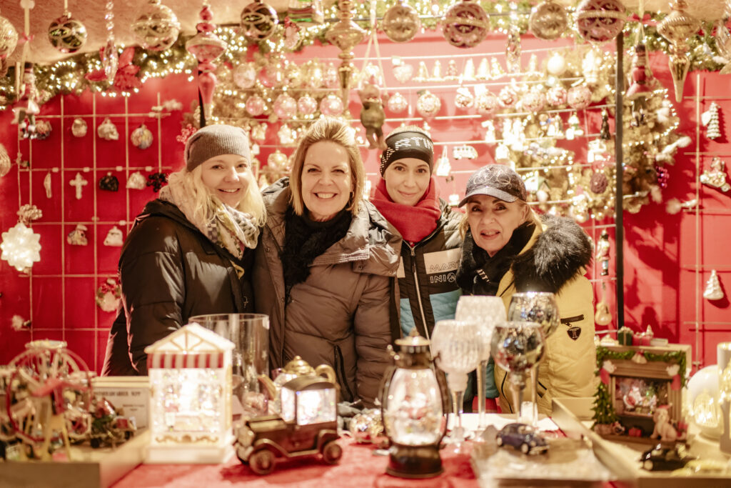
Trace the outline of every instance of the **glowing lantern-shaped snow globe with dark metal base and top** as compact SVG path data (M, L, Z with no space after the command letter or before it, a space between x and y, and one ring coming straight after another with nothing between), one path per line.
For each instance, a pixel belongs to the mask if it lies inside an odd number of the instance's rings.
M429 341L416 328L397 339L395 366L385 375L381 412L391 442L386 473L401 478L431 478L442 473L439 443L446 431L449 393L431 361Z

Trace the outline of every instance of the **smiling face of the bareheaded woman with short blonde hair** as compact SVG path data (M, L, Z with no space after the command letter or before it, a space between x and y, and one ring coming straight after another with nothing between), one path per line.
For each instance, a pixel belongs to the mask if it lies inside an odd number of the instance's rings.
M332 140L314 143L305 154L301 181L308 217L332 219L346 207L353 189L348 152Z

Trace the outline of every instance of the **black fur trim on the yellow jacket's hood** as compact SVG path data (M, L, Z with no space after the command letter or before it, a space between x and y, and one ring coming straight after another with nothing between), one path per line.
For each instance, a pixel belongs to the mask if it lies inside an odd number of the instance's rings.
M515 289L558 293L591 264L591 240L569 217L544 214L531 240L512 263Z

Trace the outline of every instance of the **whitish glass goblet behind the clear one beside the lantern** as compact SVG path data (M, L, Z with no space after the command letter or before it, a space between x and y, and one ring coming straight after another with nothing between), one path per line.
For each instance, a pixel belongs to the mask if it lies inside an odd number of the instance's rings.
M480 367L477 368L477 411L480 412L478 427L487 427L485 416L485 369L490 360L493 329L505 320L505 305L499 296L465 295L457 302L455 320L477 322L480 326Z

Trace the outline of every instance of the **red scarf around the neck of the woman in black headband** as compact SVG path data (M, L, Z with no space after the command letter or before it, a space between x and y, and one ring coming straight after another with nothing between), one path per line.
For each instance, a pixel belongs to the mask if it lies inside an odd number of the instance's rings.
M429 187L424 196L416 205L404 205L391 200L386 189L386 180L381 179L376 185L371 202L376 206L383 217L401 233L401 237L409 243L420 242L436 229L442 210L439 209L439 196L436 195L434 177L429 181Z

